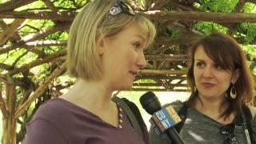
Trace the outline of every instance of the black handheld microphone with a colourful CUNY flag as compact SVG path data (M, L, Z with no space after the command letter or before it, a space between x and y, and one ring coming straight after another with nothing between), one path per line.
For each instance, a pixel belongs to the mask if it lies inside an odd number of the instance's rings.
M178 132L173 127L178 122L181 122L181 119L172 106L162 109L161 103L152 91L143 94L139 101L143 109L153 115L150 118L150 123L158 134L165 132L172 143L184 144L182 138L179 137Z

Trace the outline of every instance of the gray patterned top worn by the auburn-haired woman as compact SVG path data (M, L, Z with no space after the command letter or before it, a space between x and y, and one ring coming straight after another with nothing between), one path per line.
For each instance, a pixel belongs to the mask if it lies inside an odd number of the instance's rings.
M170 103L175 110L182 107L182 102ZM254 138L256 138L256 118L251 121ZM220 133L222 124L214 119L200 113L194 108L188 108L186 121L180 131L180 137L186 144L222 144L225 135ZM246 136L242 126L235 126L234 135L238 139L239 144L246 144ZM151 144L170 144L170 139L166 134L158 136L150 127Z

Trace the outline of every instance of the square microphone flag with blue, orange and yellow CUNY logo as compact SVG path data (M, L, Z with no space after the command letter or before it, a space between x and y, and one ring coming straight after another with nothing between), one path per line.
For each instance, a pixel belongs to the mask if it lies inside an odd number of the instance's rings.
M181 121L181 118L179 118L172 106L167 106L162 110L158 110L153 114L152 118L150 118L150 123L154 126L154 130L158 134L162 134L164 131Z

